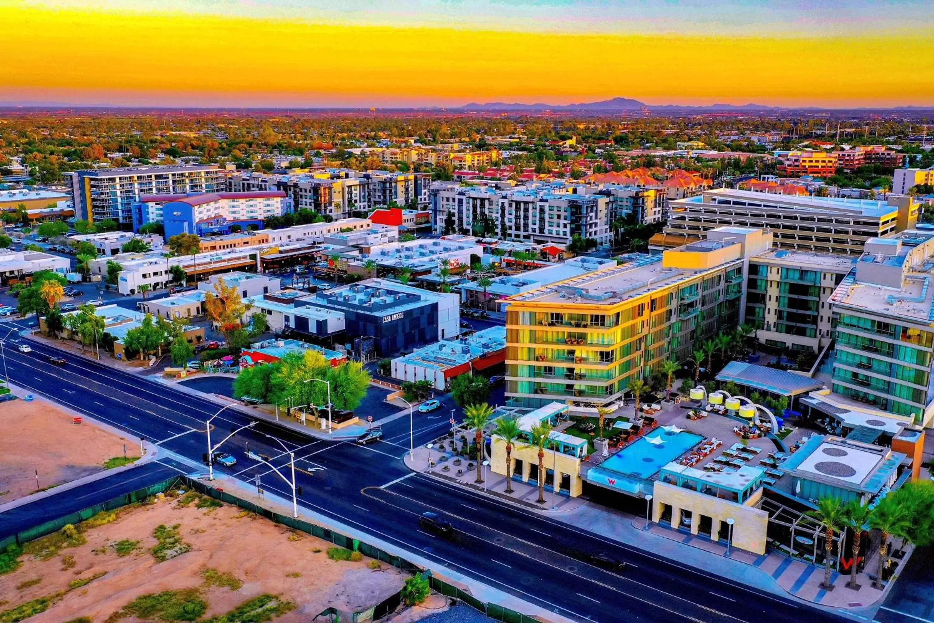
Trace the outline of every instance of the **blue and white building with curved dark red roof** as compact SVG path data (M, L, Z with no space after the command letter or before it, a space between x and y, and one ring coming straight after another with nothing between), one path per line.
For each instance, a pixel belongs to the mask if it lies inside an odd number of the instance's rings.
M283 191L201 192L192 194L146 194L134 204L134 231L146 223L163 223L165 236L229 233L285 213Z

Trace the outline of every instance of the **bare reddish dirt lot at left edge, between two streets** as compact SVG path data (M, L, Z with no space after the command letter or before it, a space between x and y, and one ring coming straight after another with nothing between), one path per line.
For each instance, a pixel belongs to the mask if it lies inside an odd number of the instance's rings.
M0 404L0 503L35 491L61 485L104 469L104 461L139 456L139 443L106 432L72 417L55 404L39 398L27 403L14 400Z

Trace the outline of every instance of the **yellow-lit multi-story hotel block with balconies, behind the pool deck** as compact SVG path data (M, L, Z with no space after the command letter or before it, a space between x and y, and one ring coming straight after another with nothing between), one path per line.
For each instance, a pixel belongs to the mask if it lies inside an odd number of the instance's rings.
M661 361L738 325L744 266L771 234L740 227L505 299L508 404L612 404Z

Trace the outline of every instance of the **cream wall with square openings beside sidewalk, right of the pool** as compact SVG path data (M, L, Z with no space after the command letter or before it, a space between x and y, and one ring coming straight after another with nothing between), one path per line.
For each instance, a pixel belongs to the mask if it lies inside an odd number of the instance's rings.
M754 496L749 503L756 503L757 499ZM732 518L736 522L733 525L733 546L765 554L769 514L763 510L657 480L652 491L652 520L655 522L661 517L662 504L672 506L672 528L675 529L680 525L681 511L691 512L691 534L698 533L701 515L711 517L715 539L718 530L722 530L722 538L727 538L727 519Z

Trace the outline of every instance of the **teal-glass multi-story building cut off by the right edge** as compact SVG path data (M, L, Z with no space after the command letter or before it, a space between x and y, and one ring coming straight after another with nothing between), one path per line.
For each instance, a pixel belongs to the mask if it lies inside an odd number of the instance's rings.
M934 236L866 244L854 275L831 296L839 316L832 389L886 415L934 419Z

